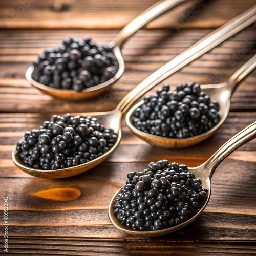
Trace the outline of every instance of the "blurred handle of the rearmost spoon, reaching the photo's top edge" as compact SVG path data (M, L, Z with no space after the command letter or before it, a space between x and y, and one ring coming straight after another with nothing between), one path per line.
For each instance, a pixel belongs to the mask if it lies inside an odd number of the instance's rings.
M184 2L185 0L160 0L150 8L146 9L139 16L137 16L132 22L127 24L117 35L117 37L110 42L109 47L114 46L122 47L123 43L129 39L134 33L151 22L154 18L168 11L170 8Z

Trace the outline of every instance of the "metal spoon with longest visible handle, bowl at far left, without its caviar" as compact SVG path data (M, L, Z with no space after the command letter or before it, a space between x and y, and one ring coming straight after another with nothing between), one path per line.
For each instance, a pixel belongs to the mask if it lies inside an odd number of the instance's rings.
M33 169L25 166L23 162L19 159L16 147L12 152L12 160L14 164L23 170L24 172L41 178L65 178L71 177L95 167L100 164L106 158L108 158L118 146L121 140L121 120L123 115L129 110L129 108L148 90L152 89L156 84L161 82L163 79L169 75L180 70L182 67L195 60L202 54L206 53L210 49L219 45L224 40L228 39L230 36L238 33L242 29L249 26L256 20L256 6L249 9L248 11L242 13L238 17L232 19L230 22L226 23L219 29L205 36L203 39L198 41L195 45L191 46L183 53L179 54L173 60L166 63L163 67L158 69L152 75L148 76L143 80L137 87L135 87L131 92L129 92L117 105L117 107L112 111L106 112L94 112L86 113L87 115L95 116L98 121L105 127L113 129L113 131L118 135L116 143L113 147L100 157L95 158L84 164L79 164L76 166L57 169L57 170L39 170Z

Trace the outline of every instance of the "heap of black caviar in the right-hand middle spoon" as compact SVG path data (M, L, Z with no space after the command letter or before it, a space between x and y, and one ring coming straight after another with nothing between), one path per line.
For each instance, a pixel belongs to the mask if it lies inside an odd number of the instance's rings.
M145 96L144 101L135 110L132 123L145 133L186 138L208 131L220 121L218 102L210 101L198 83L178 84L174 91L164 84L157 94Z

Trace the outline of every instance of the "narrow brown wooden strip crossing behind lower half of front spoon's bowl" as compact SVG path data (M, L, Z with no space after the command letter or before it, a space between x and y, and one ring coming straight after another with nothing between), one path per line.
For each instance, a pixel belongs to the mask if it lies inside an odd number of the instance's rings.
M26 218L20 220L19 210L9 212L12 222L9 225L15 226L90 226L90 225L111 225L108 217L108 209L77 209L77 210L30 210L26 211ZM44 218L40 218L40 216ZM73 218L72 218L73 216ZM238 219L240 218L240 221ZM256 215L240 212L217 212L216 209L207 207L199 219L200 225L204 227L222 227L229 229L252 230L256 224ZM246 232L246 231L245 231Z

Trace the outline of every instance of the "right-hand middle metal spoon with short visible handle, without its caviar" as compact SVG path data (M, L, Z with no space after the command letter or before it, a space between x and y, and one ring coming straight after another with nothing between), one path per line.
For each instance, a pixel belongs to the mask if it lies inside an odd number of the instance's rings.
M256 55L254 55L250 60L248 60L237 72L235 72L227 82L219 83L219 84L207 84L207 85L204 84L200 86L202 91L210 96L211 100L216 100L220 105L220 110L218 113L220 114L221 119L219 123L205 133L202 133L193 137L178 139L178 138L167 138L167 137L156 136L156 135L152 135L152 134L145 133L138 130L132 123L132 117L133 117L134 111L137 108L139 108L142 104L144 104L143 100L137 103L135 106L133 106L133 108L129 110L129 112L126 115L126 123L130 128L130 130L135 135L140 137L142 140L155 146L167 147L167 148L182 148L182 147L188 147L188 146L200 143L201 141L207 139L212 134L214 134L219 129L219 127L223 124L223 122L226 120L229 113L229 109L230 109L231 95L234 89L255 68L256 68Z

